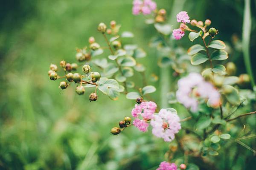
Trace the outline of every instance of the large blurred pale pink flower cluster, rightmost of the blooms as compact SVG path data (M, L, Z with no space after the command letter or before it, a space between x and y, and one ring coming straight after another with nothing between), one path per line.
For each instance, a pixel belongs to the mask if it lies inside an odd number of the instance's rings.
M192 95L193 90L196 91L194 96ZM208 103L213 107L220 103L221 95L211 83L204 80L201 74L190 73L187 77L178 81L177 100L193 112L198 110L197 96L208 99Z

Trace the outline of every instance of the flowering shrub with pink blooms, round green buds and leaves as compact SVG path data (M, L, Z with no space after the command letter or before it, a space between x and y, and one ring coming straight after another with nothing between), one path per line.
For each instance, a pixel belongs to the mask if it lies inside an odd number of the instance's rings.
M234 76L236 66L232 62L224 62L228 59L226 45L221 40L215 40L218 30L208 28L211 20L190 20L188 13L181 11L176 16L180 26L172 30L172 26L166 22L166 10L157 9L157 4L152 0L134 0L132 13L147 15L146 23L154 24L159 37L153 38L150 46L160 51L158 65L171 66L177 77L176 93L172 93L170 103L182 104L190 116L181 119L175 108L160 108L157 102L151 99L149 94L157 89L148 85L144 77L145 66L139 62L140 58L146 57L146 53L137 45L123 43L123 39L132 38L134 34L128 31L120 33L120 25L115 21L111 21L109 27L105 23L99 23L98 26L107 47L99 45L93 37L89 37L88 45L77 49L76 59L82 64L63 60L60 62L62 73L59 73L57 65L52 64L48 72L49 78L54 81L63 79L59 86L63 90L75 84L75 91L79 95L83 95L86 88L95 88L89 96L89 100L93 102L98 100L99 91L112 100L117 100L120 94L124 94L127 99L136 101L137 104L131 110L134 120L125 116L119 122L119 127L111 129L111 133L118 135L125 128L134 125L141 132L151 131L164 142L176 141L178 149L184 152L183 158L174 158L172 161L173 155L167 156L167 160L163 160L157 170L177 170L178 167L181 170L197 169L197 165L189 162L186 157L203 157L202 161L209 162L211 156L219 155L218 150L222 144L231 145L236 142L247 149L250 148L240 140L250 134L241 137L239 130L231 132L230 128L236 125L234 120L256 113L252 110L250 113L234 116L236 111L244 106L245 101L247 105L255 101L255 93L248 89L246 92L253 94L248 95L241 89L250 82L248 75ZM197 39L202 41L200 44L192 45L187 54L169 45L169 41L185 37L186 32L189 32L191 42ZM97 58L103 53L108 55L108 59ZM175 55L170 55L172 53ZM190 57L182 57L187 55ZM94 71L97 68L99 72ZM141 87L128 80L134 76L134 70L143 75ZM188 121L195 125L183 126L182 123ZM180 140L186 133L192 133L193 136ZM191 146L191 143L194 145ZM255 153L252 148L249 150ZM169 153L170 151L166 152Z

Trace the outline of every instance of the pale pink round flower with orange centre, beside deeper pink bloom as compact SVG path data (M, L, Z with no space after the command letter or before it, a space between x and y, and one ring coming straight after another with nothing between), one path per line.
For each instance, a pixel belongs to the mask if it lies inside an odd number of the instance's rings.
M180 118L176 112L161 109L150 122L154 136L163 138L165 142L171 142L175 134L181 129Z

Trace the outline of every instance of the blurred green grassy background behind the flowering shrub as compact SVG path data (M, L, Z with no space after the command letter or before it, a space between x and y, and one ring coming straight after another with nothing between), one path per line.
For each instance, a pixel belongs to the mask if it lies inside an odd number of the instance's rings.
M254 72L255 2L250 46ZM157 0L158 8L167 11L173 4L174 0ZM109 133L130 116L134 101L124 95L111 101L100 94L97 102L89 102L90 90L82 96L74 88L61 91L59 82L47 75L50 63L75 62L76 47L84 47L88 37L104 44L97 25L116 20L121 31L134 32L134 43L147 52L141 60L146 74L159 76L156 51L148 48L154 27L146 25L143 16L133 16L131 8L132 0L1 1L0 169L146 170L164 160L169 144L150 132L131 127L119 136ZM244 0L186 0L182 9L192 19L211 19L218 37L233 48L232 37L241 40L243 8ZM184 39L177 45L192 45ZM237 64L238 74L245 73L241 49L231 52L230 60ZM159 82L152 84L160 89ZM159 100L159 90L152 96Z

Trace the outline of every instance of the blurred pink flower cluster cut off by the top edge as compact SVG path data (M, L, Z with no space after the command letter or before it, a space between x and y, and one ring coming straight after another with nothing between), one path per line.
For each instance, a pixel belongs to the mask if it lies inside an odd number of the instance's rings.
M132 13L134 15L138 15L140 13L148 15L157 8L157 4L152 0L134 0L133 5Z

